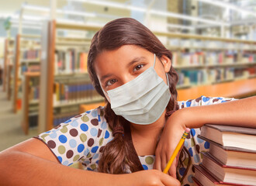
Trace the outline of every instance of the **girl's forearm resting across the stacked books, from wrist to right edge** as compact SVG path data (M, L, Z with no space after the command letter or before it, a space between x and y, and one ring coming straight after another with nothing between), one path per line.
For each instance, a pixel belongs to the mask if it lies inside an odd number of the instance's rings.
M189 128L199 128L206 123L256 127L256 96L215 105L183 108L179 112L184 125Z

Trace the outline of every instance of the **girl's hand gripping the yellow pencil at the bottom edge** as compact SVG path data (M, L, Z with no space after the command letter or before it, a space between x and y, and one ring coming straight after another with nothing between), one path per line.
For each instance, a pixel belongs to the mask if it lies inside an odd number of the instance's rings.
M137 186L180 186L180 182L167 174L157 170L138 171L132 174L123 174L123 179L116 185ZM119 180L120 181L120 180Z

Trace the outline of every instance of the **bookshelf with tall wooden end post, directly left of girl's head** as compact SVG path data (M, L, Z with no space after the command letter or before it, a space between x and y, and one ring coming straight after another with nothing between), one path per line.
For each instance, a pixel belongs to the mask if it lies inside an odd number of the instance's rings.
M57 36L57 29L97 31L99 27L44 22L38 133L77 115L82 104L104 101L92 87L87 73L91 39Z

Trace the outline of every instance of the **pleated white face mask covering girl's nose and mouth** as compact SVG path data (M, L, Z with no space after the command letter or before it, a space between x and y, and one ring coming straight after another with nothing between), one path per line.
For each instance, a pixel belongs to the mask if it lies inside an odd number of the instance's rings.
M155 62L154 54L154 64ZM166 77L168 81L167 74ZM140 125L157 121L171 98L169 82L168 85L165 84L157 75L154 66L149 67L132 81L105 94L109 96L111 108L116 115L122 115L129 122Z

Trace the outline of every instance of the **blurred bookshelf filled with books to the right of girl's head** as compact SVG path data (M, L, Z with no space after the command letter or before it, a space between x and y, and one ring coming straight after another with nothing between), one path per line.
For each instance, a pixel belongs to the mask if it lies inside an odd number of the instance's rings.
M163 33L161 33L163 35ZM178 88L248 79L256 74L256 42L166 33ZM177 37L177 38L175 38Z

